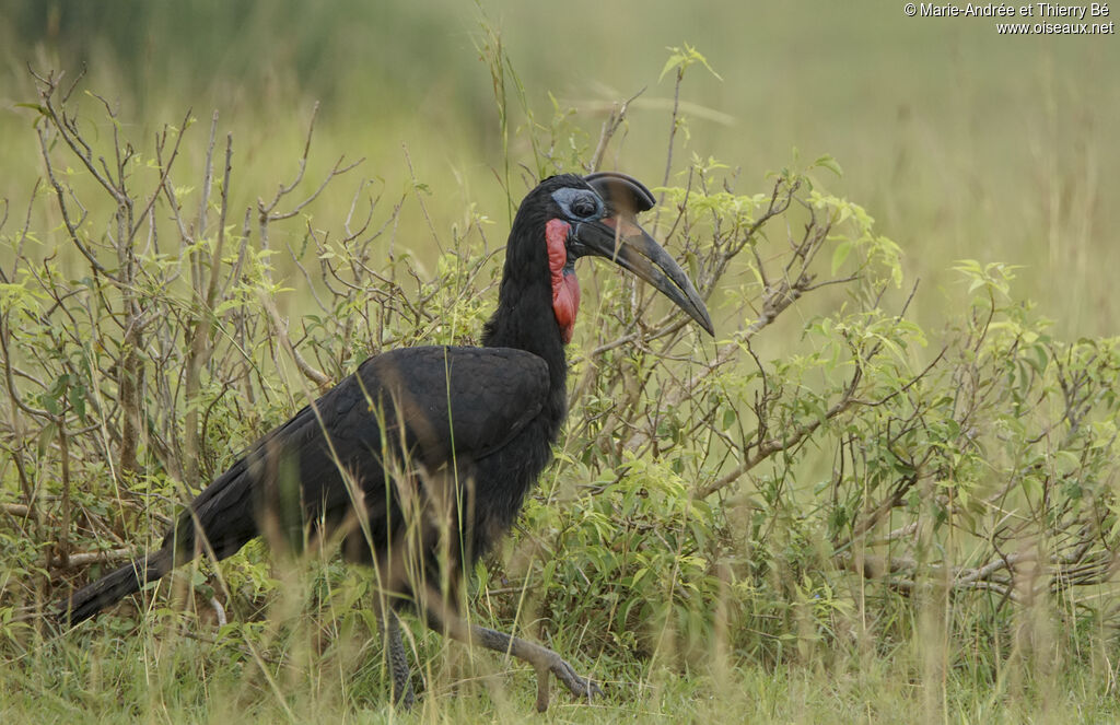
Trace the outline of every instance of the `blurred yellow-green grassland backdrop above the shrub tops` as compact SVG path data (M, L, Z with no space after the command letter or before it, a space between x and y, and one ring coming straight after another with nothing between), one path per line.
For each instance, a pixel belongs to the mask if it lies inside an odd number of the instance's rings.
M1017 291L1060 336L1116 333L1116 35L1006 37L995 19L908 18L895 2L0 0L0 195L13 208L41 165L35 112L18 105L36 100L28 64L71 74L85 64L84 87L119 104L139 138L187 109L203 120L217 110L234 133L235 176L260 194L293 173L319 102L312 166L364 157L361 174L393 197L409 179L407 150L438 199L437 229L478 204L501 239L484 22L539 120L553 104L573 109L592 147L612 104L644 89L607 166L651 184L664 173L673 94L673 74L659 76L666 47L688 43L719 77L690 71L678 158L741 168L737 190L753 193L794 148L809 160L831 154L844 175L822 180L902 245L922 279L923 323L936 326L960 292L950 264L974 258L1021 264Z

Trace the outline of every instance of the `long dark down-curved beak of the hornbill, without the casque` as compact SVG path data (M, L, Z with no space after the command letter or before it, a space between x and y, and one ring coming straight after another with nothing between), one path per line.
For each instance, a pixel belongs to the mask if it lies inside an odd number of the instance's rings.
M619 214L598 222L580 222L573 226L568 251L575 257L592 254L609 259L656 287L662 295L687 312L689 317L700 323L709 335L716 335L708 309L684 271L628 215Z

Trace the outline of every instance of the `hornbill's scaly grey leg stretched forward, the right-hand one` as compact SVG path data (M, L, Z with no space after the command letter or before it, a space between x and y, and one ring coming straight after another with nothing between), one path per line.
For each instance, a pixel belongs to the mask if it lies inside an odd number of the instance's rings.
M603 695L598 685L590 678L577 675L571 664L547 647L478 624L468 624L457 613L449 611L450 607L444 604L438 595L433 596L432 594L429 592L428 598L423 603L429 626L467 645L478 643L488 650L516 657L533 666L533 669L536 670L538 712L543 713L549 707L549 672L556 675L557 679L567 685L576 697L590 700L592 697Z

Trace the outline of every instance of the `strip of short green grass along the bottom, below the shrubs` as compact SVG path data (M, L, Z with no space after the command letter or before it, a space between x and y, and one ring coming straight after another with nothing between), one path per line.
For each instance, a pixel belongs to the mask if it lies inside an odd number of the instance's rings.
M305 623L309 624L309 623ZM130 629L130 628L125 628ZM157 630L159 628L156 628ZM298 638L296 638L298 639ZM102 628L45 642L9 662L0 684L6 723L1101 723L1118 715L1109 678L1090 667L1032 676L1006 666L995 681L906 652L839 656L763 667L713 659L708 668L617 663L597 673L607 697L595 705L553 693L531 715L535 686L524 667L418 634L428 689L416 709L385 707L375 647L361 640L312 654L295 645L283 664L230 661L218 647L169 631ZM364 651L360 651L363 649ZM349 649L340 653L339 649ZM936 654L933 654L936 660ZM1015 668L1021 667L1021 670Z

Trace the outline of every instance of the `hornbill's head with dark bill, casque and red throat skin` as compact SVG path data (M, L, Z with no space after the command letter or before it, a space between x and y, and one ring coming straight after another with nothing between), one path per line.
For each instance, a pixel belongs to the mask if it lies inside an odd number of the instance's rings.
M576 260L591 255L609 259L650 282L700 323L708 334L715 334L696 287L673 258L637 223L637 214L653 205L653 194L641 182L614 171L582 177L553 176L522 202L517 216L531 214L536 224L541 221L544 224L552 310L563 342L571 341L579 308Z

